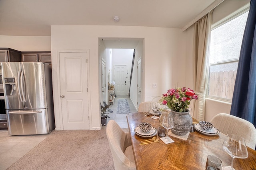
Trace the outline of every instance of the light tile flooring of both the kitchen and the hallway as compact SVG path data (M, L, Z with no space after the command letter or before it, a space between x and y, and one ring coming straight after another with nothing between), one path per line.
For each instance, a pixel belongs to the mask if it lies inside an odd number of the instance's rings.
M116 114L118 106L118 98L126 98L130 106L131 113L137 112L134 104L128 96L117 96L114 104L110 109L114 113L110 113L110 119L115 120L121 128L128 128L126 121L127 114ZM108 121L110 119L107 119ZM106 126L102 127L106 128ZM43 141L49 134L45 135L8 135L7 130L0 130L0 170L6 170L27 152L33 149L41 141Z

